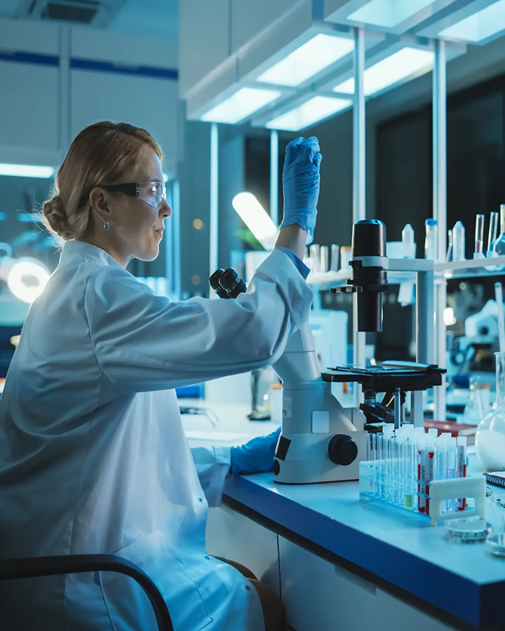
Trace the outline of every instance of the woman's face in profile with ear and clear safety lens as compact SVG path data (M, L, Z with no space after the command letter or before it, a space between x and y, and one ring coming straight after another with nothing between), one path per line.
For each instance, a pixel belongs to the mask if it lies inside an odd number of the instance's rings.
M172 215L172 209L161 196L156 197L156 190L163 186L163 170L159 157L150 150L145 151L135 170L128 178L130 184L142 183L140 195L130 196L122 192L102 191L97 200L104 204L107 212L99 213L100 223L97 232L109 247L105 249L112 256L126 265L132 258L152 261L159 255L159 244L163 238L164 222ZM153 183L149 186L149 182ZM158 184L154 184L154 183ZM93 192L95 192L93 191ZM105 222L109 230L105 230Z

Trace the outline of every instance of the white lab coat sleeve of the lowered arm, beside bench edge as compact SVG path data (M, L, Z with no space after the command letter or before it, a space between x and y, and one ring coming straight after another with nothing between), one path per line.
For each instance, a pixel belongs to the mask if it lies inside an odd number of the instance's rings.
M210 508L220 506L231 466L230 447L191 447L196 473Z

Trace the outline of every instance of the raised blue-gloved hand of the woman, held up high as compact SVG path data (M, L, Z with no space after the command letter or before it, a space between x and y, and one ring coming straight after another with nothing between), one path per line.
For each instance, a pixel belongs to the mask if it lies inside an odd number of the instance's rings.
M281 224L298 224L307 230L307 245L314 239L319 198L319 141L315 136L292 140L286 147L283 189L284 218Z

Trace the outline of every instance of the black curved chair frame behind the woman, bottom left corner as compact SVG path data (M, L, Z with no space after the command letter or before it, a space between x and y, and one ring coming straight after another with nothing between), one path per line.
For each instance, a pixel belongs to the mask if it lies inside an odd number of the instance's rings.
M159 631L173 631L170 613L159 589L140 567L126 559L114 555L64 555L0 560L0 581L97 571L119 572L137 581L151 601Z

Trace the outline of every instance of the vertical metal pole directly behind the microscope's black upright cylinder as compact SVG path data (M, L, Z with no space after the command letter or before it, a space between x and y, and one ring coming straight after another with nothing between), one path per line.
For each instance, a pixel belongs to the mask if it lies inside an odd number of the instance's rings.
M353 224L365 219L365 31L354 29ZM358 297L354 294L353 362L365 365L365 333L358 333Z

